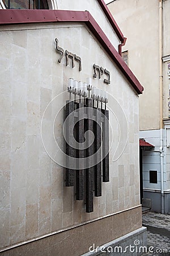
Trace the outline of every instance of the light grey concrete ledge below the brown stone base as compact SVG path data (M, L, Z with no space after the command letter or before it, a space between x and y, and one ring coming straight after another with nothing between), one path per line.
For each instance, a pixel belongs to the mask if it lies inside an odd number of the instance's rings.
M139 256L147 252L147 229L145 227L139 228L113 240L105 245L97 246L95 245L90 247L88 253L82 254L83 256L95 256L95 255L133 255Z

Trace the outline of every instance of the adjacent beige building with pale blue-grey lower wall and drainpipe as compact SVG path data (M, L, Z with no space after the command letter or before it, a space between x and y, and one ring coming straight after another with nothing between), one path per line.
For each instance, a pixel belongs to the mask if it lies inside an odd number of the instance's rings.
M170 1L116 0L108 7L127 38L123 55L128 53L129 67L145 87L139 97L139 137L155 148L143 150L143 197L152 210L168 213Z

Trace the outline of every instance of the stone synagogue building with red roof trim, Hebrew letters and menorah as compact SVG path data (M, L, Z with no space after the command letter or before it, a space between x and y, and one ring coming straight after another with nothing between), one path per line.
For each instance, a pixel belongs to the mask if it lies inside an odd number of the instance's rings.
M99 246L142 255L143 87L122 60L108 7L0 8L1 255L95 255Z

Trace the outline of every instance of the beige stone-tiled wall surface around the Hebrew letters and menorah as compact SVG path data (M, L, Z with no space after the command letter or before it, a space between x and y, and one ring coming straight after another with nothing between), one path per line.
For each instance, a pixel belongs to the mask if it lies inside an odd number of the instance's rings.
M87 28L78 23L1 26L0 37L1 247L139 205L138 96ZM65 58L58 63L56 37L59 46L82 58L82 72L66 67ZM63 168L46 153L40 126L46 106L67 89L68 79L86 82L93 77L94 63L111 72L110 85L99 79L92 84L122 106L129 136L113 162L119 136L113 119L110 182L103 183L89 214L83 201L75 201L74 188L65 187ZM109 106L114 109L113 102ZM62 121L57 122L56 136L62 141Z

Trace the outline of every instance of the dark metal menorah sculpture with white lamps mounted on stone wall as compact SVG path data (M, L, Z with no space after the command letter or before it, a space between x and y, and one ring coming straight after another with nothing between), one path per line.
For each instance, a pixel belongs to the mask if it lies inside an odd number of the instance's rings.
M102 177L103 182L109 181L108 97L104 90L92 87L91 79L87 79L87 83L69 79L68 92L66 155L75 159L75 169L66 168L66 187L75 186L76 200L84 200L86 212L90 213L94 211L94 195L101 196ZM74 100L71 100L72 94ZM84 138L86 131L94 133L92 144L90 136ZM79 145L86 141L86 148L77 148L73 136ZM92 160L88 166L89 159ZM69 167L69 157L66 157L66 166Z

